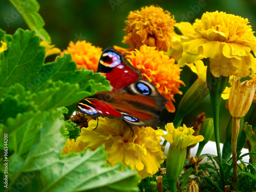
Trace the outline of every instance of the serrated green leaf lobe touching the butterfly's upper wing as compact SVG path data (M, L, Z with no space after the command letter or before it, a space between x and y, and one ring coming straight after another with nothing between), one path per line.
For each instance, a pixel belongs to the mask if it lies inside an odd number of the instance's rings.
M100 74L94 74L92 71L84 71L83 69L76 70L76 63L72 61L70 54L64 54L63 57L57 57L55 62L42 66L38 73L23 83L23 86L32 93L42 91L48 89L45 83L50 79L71 84L78 83L79 91L87 91L91 94L111 89L109 81Z

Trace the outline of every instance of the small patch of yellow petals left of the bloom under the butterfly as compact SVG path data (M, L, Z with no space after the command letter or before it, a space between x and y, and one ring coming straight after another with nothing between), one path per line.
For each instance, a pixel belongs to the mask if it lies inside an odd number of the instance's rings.
M80 137L78 137L75 141L75 139L67 139L65 146L62 150L61 155L67 155L71 152L77 153L84 151L82 141L80 140Z

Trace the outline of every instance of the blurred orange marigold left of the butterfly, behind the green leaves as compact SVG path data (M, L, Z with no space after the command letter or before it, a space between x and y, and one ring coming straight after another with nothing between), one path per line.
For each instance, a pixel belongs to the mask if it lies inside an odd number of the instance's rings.
M93 46L90 42L78 40L75 44L70 41L69 47L61 52L60 56L63 53L71 54L72 60L77 64L77 70L84 68L85 70L93 70L96 73L102 50Z

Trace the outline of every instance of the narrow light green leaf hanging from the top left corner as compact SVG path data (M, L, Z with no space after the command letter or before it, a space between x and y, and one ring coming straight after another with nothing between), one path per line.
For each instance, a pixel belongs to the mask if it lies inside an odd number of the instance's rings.
M36 34L44 41L51 44L51 37L43 28L45 26L44 19L38 13L40 8L35 0L9 0L14 7L23 15L23 18L31 30L35 30Z

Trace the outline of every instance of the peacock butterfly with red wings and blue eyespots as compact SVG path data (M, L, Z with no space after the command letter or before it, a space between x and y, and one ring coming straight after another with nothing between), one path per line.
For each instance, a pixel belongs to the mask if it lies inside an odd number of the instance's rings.
M157 130L158 116L166 99L157 88L142 79L136 69L114 48L105 49L100 57L98 73L103 73L113 89L100 92L77 104L79 112L97 117L123 119L137 126L151 126Z

